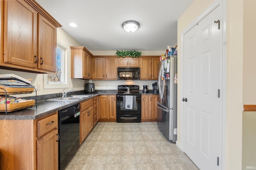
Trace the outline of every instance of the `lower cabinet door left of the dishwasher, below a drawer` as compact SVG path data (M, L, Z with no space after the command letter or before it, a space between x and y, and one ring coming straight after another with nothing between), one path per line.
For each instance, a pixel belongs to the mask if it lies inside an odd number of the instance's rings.
M37 169L58 170L58 129L37 140Z

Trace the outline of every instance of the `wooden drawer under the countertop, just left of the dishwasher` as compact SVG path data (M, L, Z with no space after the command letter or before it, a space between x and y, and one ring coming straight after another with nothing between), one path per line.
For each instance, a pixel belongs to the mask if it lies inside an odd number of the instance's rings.
M40 137L52 129L58 127L58 114L51 115L42 120L37 121L37 137Z

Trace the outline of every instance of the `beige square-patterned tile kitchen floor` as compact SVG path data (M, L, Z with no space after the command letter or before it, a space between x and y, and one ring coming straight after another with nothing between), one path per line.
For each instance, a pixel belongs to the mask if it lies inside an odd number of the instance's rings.
M98 122L66 170L198 170L156 122Z

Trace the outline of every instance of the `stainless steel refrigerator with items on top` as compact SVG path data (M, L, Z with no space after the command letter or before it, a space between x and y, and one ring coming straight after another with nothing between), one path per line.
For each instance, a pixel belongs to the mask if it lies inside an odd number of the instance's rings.
M158 129L172 142L177 141L177 55L159 63Z

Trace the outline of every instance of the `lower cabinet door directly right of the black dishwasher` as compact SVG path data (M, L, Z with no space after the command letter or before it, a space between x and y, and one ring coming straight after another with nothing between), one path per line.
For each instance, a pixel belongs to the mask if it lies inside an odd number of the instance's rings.
M80 143L82 143L89 133L87 128L88 109L82 111L80 116Z

